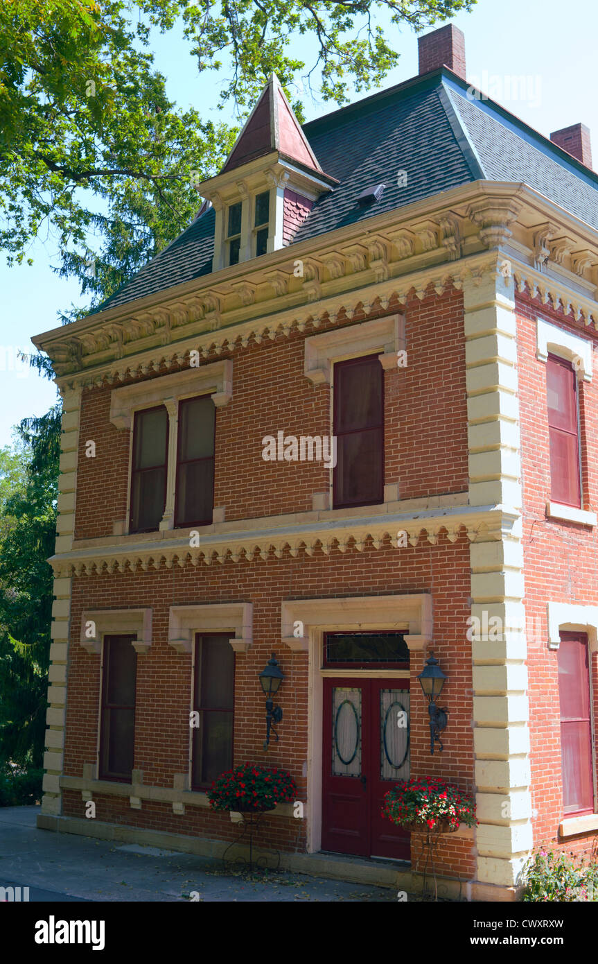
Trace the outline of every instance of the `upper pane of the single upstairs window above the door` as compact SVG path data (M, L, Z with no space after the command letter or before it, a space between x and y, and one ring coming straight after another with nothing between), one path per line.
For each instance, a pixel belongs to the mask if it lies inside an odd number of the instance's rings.
M382 366L368 359L334 367L335 434L370 428L382 420Z

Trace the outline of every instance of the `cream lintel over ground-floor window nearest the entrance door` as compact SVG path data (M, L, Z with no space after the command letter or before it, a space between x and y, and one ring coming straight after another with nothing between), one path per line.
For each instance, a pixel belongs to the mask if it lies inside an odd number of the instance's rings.
M171 605L169 646L177 653L191 653L195 632L230 632L235 653L247 653L252 642L253 603L205 603Z

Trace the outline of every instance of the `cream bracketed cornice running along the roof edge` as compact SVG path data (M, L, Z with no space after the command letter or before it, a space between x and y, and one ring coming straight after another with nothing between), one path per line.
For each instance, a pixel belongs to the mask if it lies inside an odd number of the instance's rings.
M564 282L568 274L588 298L596 289L596 231L524 184L478 181L107 308L35 343L59 386L99 385L105 376L136 377L147 353L154 370L181 365L192 349L219 353L306 323L349 323L360 308L377 303L379 312L411 287L419 297L429 283L436 294L450 281L459 288L498 246Z

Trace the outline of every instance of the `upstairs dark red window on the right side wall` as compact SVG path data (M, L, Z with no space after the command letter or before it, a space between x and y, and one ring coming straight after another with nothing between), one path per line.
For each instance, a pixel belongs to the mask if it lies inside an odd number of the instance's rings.
M546 363L551 498L581 508L577 378L571 362Z

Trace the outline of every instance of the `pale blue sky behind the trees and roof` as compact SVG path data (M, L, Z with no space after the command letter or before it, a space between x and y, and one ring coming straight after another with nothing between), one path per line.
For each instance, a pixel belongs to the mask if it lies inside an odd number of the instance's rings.
M401 53L399 67L383 85L390 87L417 74L417 39L406 27L400 33L387 17L379 22L389 36L396 36ZM561 0L480 0L471 13L462 13L452 22L465 34L468 79L546 136L560 127L585 123L598 169L596 0L569 0L566 5ZM204 115L211 111L216 118L215 75L197 74L180 33L173 30L166 37L154 36L152 43L156 66L168 78L171 99L184 107L194 105ZM305 48L301 39L301 51ZM522 76L527 78L523 97L521 82L513 85L510 80ZM304 98L307 120L334 108L332 103ZM231 114L224 114L224 119L232 120ZM16 422L27 415L41 415L56 400L55 387L18 362L16 352L33 350L32 335L57 327L60 309L82 304L78 283L60 279L51 270L59 264L51 237L39 237L28 254L34 258L33 267L8 268L0 259L0 446L11 442Z

